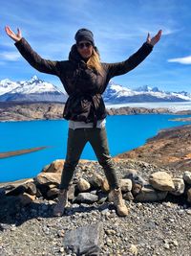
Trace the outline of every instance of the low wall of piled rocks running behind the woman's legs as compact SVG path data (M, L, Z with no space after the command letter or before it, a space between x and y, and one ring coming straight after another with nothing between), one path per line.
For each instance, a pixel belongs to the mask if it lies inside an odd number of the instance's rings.
M34 177L33 182L19 184L13 188L5 187L5 194L7 197L19 196L23 204L28 204L40 197L54 199L59 192L61 166L63 167L63 160L55 160L49 166L46 166L39 175ZM96 168L96 162L92 163L92 167L93 170ZM95 174L93 170L83 177L76 176L74 178L69 189L69 198L72 203L91 204L107 201L110 191L108 182L104 176ZM186 195L186 191L190 189L190 180L188 178L190 175L191 172L186 171L181 176L173 177L169 172L159 171L158 168L158 172L153 172L143 178L135 169L132 169L132 171L127 169L127 172L124 171L124 175L119 178L119 186L123 198L126 200L159 201L166 198L168 193L171 193L174 197ZM93 181L94 178L95 181ZM189 201L189 192L187 195Z

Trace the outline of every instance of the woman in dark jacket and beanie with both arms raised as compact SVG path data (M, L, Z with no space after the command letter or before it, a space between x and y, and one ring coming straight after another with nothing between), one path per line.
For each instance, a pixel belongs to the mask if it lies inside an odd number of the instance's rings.
M85 144L90 142L99 164L103 167L110 185L110 198L117 207L119 216L126 216L128 209L122 199L117 182L114 163L109 153L105 130L106 110L101 94L108 82L115 76L123 75L134 69L152 51L159 41L161 31L153 38L147 36L146 42L137 53L118 63L102 63L95 46L94 35L87 29L76 32L75 44L69 54L69 60L52 61L41 58L22 37L10 27L5 28L7 35L15 41L20 54L40 72L57 76L69 95L63 117L70 120L67 154L61 176L58 202L53 209L54 216L62 216L68 202L69 184Z

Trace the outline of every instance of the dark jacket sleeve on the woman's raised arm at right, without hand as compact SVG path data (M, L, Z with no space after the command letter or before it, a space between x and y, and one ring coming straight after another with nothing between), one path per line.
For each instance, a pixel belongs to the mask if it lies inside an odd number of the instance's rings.
M139 49L138 52L132 55L130 58L125 61L117 62L117 63L108 63L107 64L107 79L108 81L113 77L126 74L131 71L138 64L144 60L152 51L153 46L147 42L145 42Z

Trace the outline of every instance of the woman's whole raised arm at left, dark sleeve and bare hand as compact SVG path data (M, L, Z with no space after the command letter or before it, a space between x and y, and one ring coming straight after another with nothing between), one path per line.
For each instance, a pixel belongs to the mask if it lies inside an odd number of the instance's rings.
M32 47L27 40L22 37L20 29L17 29L17 33L14 33L9 26L6 26L5 31L6 34L15 41L16 48L33 68L43 73L59 76L59 61L41 58L35 51L32 50Z

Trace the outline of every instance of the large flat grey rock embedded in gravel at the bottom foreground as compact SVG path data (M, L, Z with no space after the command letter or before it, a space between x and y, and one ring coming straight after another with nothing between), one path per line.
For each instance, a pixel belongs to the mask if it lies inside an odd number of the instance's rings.
M98 255L102 237L102 223L96 223L67 231L63 244L77 255Z

